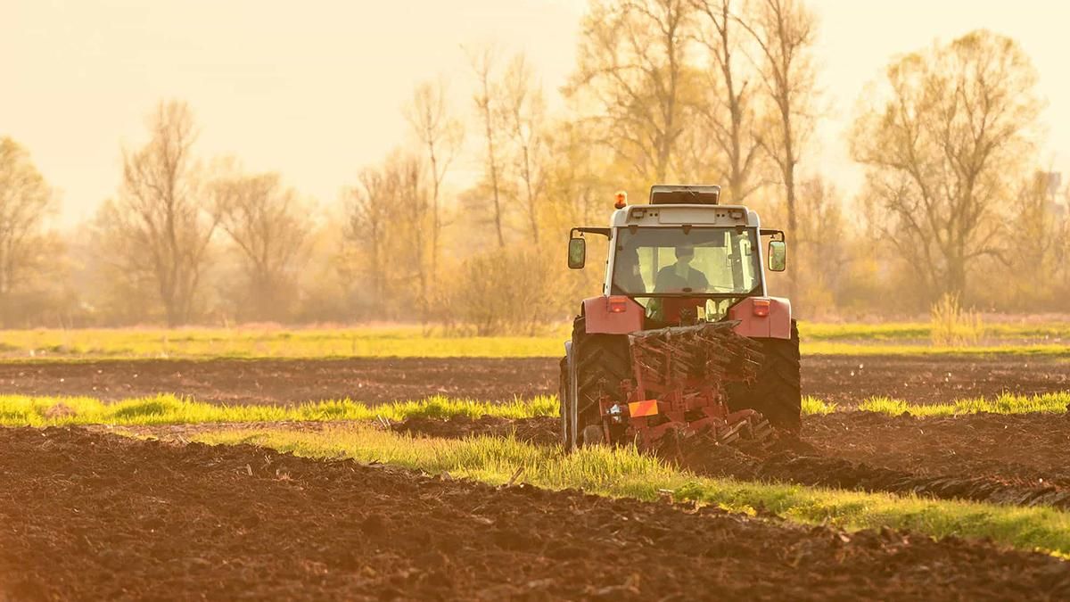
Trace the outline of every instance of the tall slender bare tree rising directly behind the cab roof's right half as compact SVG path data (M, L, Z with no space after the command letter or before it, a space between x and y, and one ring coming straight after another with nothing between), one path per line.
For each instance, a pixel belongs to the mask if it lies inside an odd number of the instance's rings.
M709 101L699 104L713 141L724 156L728 192L732 202L744 202L762 185L754 175L761 145L756 132L754 95L749 73L737 55L748 42L736 32L737 12L732 0L693 0L702 18L698 40L707 49Z

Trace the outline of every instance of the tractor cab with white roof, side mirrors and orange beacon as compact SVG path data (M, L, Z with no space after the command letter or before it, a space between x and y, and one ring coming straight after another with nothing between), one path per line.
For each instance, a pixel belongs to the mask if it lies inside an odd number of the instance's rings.
M569 267L585 264L585 236L609 239L602 292L642 307L643 328L724 319L747 298L765 298L762 269L785 267L784 236L758 214L719 204L720 186L655 185L649 204L618 193L609 228L574 228ZM770 237L767 252L762 238Z

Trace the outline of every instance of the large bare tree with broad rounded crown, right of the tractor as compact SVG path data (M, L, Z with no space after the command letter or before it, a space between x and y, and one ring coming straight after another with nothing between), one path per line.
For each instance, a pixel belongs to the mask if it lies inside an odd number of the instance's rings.
M970 261L1000 254L1000 201L1034 165L1036 72L1013 40L981 30L886 75L886 100L865 107L852 133L874 223L930 300L961 297Z

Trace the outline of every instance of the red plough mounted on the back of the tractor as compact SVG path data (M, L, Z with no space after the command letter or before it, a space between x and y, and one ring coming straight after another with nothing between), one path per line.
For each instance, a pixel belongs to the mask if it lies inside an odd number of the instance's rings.
M731 411L728 405L725 386L753 382L763 359L761 345L736 334L736 323L629 335L633 378L621 385L627 400L623 407L602 400L606 435L611 440L624 435L644 449L690 438L729 443L766 437L771 428L761 413Z

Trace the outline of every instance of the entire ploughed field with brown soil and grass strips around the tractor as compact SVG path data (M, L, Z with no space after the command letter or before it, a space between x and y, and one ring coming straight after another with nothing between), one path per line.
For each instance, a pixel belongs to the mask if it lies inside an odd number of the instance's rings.
M1070 596L1070 329L808 328L798 438L656 454L560 450L560 337L15 333L0 600Z

